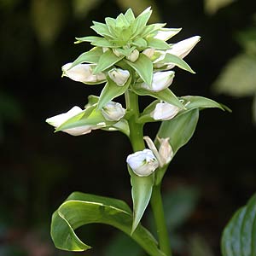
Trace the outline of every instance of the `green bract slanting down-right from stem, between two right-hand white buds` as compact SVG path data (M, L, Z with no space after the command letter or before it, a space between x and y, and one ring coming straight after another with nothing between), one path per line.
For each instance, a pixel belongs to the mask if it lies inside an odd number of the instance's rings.
M140 96L152 96L156 99L160 99L161 101L167 102L169 104L175 105L178 108L184 108L183 104L178 100L177 96L170 90L169 88L166 88L165 90L160 91L150 91L145 90L143 88L133 88L133 90L137 93L137 95Z

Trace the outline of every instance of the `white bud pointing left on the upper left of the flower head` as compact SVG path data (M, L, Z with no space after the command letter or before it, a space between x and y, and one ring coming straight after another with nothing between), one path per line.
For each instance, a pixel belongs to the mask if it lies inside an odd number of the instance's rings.
M72 64L73 63L67 63L62 66L62 76L84 84L101 84L106 81L104 73L92 73L93 67L96 67L95 64L79 64L71 67Z

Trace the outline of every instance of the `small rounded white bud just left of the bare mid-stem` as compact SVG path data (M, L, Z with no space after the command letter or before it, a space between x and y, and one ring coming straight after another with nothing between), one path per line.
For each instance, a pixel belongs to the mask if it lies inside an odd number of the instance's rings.
M125 108L118 102L108 102L102 108L102 115L108 121L119 121L125 115Z

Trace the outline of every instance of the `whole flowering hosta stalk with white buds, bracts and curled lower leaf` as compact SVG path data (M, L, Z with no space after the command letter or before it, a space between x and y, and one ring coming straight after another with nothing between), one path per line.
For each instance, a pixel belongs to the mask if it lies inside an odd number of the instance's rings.
M104 86L99 96L88 97L84 108L74 106L46 122L55 131L73 136L98 129L124 133L133 149L124 166L124 172L131 176L133 205L129 207L125 201L82 192L68 196L54 212L51 223L52 240L60 249L90 249L90 245L79 239L76 229L102 223L131 236L148 255L172 255L172 238L170 242L162 207L162 179L177 150L192 137L200 111L229 110L206 97L173 93L176 68L195 73L183 58L201 38L193 36L169 43L181 29L167 28L165 23L148 25L151 12L148 8L135 17L128 9L116 19L106 18L105 23L93 21L90 27L98 35L76 38L75 42L91 44L91 49L62 67L64 77ZM116 102L119 96L125 97L125 106ZM152 102L141 110L143 96L151 96ZM150 122L160 122L153 138L143 133L143 126ZM158 237L141 224L149 202Z

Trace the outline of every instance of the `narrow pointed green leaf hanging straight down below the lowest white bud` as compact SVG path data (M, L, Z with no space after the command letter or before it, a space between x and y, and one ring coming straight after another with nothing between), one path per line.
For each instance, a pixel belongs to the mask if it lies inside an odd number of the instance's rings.
M137 226L143 218L143 213L148 207L154 185L154 174L147 177L139 177L127 166L131 175L131 195L133 201L133 223L131 234L137 230Z

